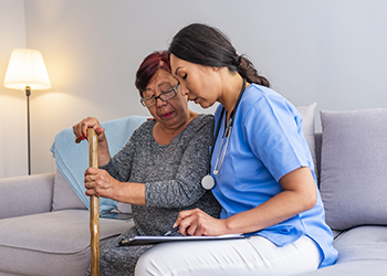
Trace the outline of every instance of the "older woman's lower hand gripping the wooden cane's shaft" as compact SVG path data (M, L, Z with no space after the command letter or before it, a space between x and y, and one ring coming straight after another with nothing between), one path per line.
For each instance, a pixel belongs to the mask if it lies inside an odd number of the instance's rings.
M85 188L87 191L86 195L97 195L107 199L116 199L119 194L121 182L114 179L107 171L88 168L85 171Z

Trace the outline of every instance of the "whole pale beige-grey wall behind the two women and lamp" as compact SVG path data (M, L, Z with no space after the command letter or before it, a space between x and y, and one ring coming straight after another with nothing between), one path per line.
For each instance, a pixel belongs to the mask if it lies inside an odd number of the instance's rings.
M1 0L0 78L12 49L42 52L52 88L31 96L32 172L50 172L61 129L147 114L135 72L190 22L223 30L295 105L386 107L386 13L385 0ZM0 177L25 174L25 95L1 85L0 100Z

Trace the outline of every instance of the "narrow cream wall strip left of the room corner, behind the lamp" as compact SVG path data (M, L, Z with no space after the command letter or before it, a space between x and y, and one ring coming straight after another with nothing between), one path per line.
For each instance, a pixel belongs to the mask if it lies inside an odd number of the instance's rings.
M23 0L0 1L0 178L25 174L27 104L25 93L7 89L2 84L14 47L25 47Z

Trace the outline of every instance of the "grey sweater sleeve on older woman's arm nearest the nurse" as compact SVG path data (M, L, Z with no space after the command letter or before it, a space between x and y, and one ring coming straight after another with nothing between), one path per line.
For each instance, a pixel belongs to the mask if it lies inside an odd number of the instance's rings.
M188 129L187 129L188 131ZM213 136L213 116L203 116L200 125L186 135L187 142L175 179L146 183L146 204L154 208L186 208L206 192L201 178L208 172L209 147Z

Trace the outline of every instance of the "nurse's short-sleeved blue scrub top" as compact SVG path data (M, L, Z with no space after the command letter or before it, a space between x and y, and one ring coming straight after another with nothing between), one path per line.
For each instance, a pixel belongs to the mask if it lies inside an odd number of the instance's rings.
M251 210L280 193L279 180L300 167L310 167L316 183L301 115L280 94L257 84L244 91L222 168L215 176L212 171L226 130L226 113L219 118L221 108L219 105L215 116L216 128L219 123L221 125L211 159L211 174L216 181L212 193L222 205L221 219ZM321 267L334 264L337 258L320 193L313 209L250 234L264 236L278 246L307 235L320 247Z

